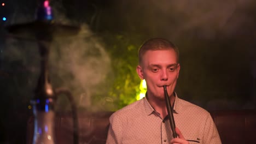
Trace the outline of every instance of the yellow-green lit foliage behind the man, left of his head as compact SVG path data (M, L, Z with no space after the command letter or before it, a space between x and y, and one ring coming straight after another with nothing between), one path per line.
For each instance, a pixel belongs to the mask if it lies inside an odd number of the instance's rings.
M130 35L131 36L131 35ZM108 76L108 97L113 99L115 110L136 101L141 80L136 73L138 64L137 51L141 36L128 34L103 34L106 49L112 59L112 73Z

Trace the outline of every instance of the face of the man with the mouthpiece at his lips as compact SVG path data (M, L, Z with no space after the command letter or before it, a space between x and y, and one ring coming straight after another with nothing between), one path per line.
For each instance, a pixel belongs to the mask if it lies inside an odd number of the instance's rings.
M137 66L138 76L147 82L148 97L165 100L164 88L171 95L176 86L180 66L174 50L147 51Z

